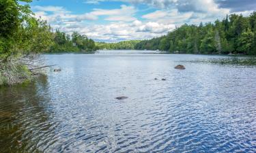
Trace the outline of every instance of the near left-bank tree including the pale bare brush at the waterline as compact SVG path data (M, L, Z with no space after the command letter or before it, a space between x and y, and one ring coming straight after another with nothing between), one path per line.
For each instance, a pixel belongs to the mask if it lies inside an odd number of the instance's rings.
M40 65L36 54L53 44L51 27L35 19L29 5L21 5L20 1L0 0L0 84L30 78L34 72L29 69Z

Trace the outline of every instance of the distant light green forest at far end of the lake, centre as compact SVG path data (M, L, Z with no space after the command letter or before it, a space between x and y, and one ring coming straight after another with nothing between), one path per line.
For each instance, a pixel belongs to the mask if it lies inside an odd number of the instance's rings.
M134 50L134 47L139 42L139 40L120 41L117 43L96 42L96 46L100 50Z

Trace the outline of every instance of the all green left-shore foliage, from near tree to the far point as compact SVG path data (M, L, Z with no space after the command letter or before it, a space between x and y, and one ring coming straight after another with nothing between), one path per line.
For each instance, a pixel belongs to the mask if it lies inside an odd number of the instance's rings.
M53 33L46 22L33 17L31 0L0 0L0 61L10 56L40 52L78 52L96 50L94 41L85 35ZM73 37L74 36L74 37Z

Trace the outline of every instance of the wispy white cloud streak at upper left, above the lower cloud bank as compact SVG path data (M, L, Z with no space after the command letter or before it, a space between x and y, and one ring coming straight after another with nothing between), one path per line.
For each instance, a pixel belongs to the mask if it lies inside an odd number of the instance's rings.
M134 7L126 5L121 5L119 9L113 10L94 9L92 12L85 14L72 14L63 7L57 6L34 6L33 9L36 17L47 20L50 24L97 20L99 16L104 16L104 20L128 22L136 20L134 14L137 12Z

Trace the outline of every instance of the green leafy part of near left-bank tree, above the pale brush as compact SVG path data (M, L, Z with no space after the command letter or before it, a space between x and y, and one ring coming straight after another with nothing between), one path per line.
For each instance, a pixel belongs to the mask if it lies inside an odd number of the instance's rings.
M20 0L31 2L31 0ZM33 17L29 5L0 0L0 60L44 52L53 45L51 27Z

